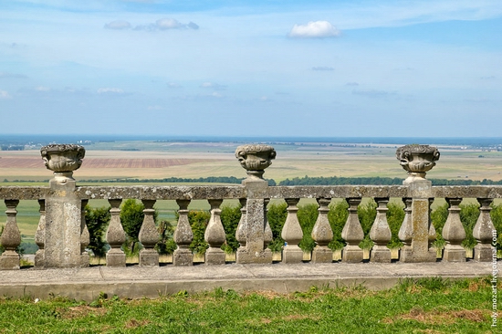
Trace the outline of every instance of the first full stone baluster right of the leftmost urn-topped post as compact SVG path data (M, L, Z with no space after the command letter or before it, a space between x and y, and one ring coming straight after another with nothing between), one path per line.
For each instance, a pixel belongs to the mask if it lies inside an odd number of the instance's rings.
M110 224L106 232L106 240L110 245L110 250L106 254L107 266L126 266L126 255L121 246L126 241L126 234L120 223L121 199L109 199L110 203Z

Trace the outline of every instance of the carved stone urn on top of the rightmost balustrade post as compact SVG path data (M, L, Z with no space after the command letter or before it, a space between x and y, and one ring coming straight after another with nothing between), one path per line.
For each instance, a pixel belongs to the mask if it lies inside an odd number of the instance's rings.
M433 169L435 162L439 160L439 151L429 145L405 145L397 149L396 158L408 172L408 178L403 183L411 183L425 179L425 173Z

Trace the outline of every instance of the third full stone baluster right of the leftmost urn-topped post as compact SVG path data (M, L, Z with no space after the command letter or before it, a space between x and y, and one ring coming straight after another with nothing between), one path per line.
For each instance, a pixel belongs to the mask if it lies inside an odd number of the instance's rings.
M190 200L176 200L180 207L178 210L178 225L174 231L174 242L178 248L173 253L174 266L193 266L193 254L190 250L190 244L193 240L192 227L188 221L188 204Z

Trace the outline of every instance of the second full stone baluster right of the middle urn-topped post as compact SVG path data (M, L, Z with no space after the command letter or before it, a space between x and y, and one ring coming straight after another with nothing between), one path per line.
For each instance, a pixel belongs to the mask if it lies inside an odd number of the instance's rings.
M328 220L330 198L318 198L319 215L312 229L312 239L316 242L316 247L312 251L312 262L331 263L333 262L333 251L328 245L333 240L333 231Z

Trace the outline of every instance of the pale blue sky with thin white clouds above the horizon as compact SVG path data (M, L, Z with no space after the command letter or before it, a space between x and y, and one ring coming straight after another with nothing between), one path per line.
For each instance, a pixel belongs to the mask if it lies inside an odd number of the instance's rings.
M5 134L500 137L500 0L9 0Z

